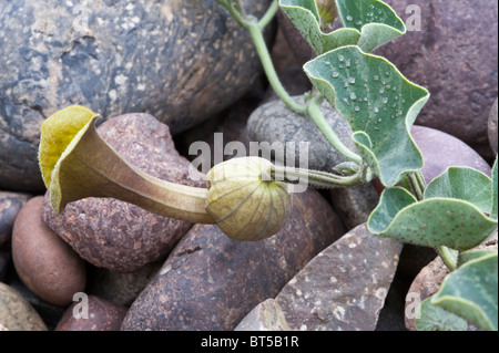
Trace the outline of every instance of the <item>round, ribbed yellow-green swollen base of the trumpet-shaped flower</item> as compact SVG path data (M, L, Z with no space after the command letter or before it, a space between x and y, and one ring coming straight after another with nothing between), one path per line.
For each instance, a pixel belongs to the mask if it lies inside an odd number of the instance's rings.
M293 199L287 184L271 178L272 163L259 157L232 158L206 175L206 212L232 239L257 241L279 231Z

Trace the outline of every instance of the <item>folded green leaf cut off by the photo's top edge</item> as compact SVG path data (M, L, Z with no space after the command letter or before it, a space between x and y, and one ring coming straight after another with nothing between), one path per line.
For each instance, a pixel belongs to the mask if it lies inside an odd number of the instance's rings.
M344 45L373 51L406 32L394 10L377 0L336 0L345 28L330 33L320 29L315 0L281 0L279 6L317 55Z

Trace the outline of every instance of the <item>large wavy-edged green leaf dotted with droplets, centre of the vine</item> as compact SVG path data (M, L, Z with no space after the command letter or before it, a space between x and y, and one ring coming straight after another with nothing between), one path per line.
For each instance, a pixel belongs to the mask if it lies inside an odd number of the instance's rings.
M385 186L422 167L410 127L429 98L386 59L343 46L304 66L313 84L350 124L363 157Z

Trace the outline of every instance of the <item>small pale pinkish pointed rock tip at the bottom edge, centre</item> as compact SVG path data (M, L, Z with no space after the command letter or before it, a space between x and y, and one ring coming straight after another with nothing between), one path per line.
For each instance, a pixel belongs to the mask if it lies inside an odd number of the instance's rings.
M234 331L289 331L283 310L269 298L255 307Z

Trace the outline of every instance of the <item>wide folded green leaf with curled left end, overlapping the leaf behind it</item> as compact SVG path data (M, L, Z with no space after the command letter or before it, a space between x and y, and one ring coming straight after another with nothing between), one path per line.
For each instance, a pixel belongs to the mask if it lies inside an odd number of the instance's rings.
M479 246L496 229L473 205L448 198L416 203L401 188L387 188L367 226L378 236L422 247L445 246L465 251Z

